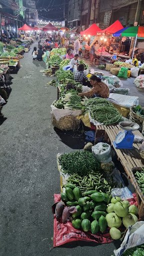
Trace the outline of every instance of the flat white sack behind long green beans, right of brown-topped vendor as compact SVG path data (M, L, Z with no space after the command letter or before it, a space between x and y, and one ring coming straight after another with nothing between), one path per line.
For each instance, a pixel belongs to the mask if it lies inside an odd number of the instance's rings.
M112 103L118 104L119 106L132 107L138 105L138 97L122 95L118 93L110 93L109 100Z

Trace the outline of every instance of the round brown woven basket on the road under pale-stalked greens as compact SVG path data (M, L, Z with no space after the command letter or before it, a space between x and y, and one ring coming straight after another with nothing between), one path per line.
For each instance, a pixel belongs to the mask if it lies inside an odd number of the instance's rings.
M66 115L57 121L54 114L52 114L52 124L61 131L74 131L78 129L80 120L76 116Z

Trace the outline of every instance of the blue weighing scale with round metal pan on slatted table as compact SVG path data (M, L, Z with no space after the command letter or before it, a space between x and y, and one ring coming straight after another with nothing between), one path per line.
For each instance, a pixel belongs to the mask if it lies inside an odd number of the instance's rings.
M113 142L116 149L133 149L134 134L133 131L138 130L139 125L131 121L121 121L119 126L123 132L120 132Z

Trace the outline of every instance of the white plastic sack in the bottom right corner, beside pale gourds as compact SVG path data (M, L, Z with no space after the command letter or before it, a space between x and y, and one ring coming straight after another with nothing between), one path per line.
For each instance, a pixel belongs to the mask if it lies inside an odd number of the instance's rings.
M115 256L120 256L125 250L144 243L143 233L144 221L138 221L133 226L129 227L120 247L114 250Z

